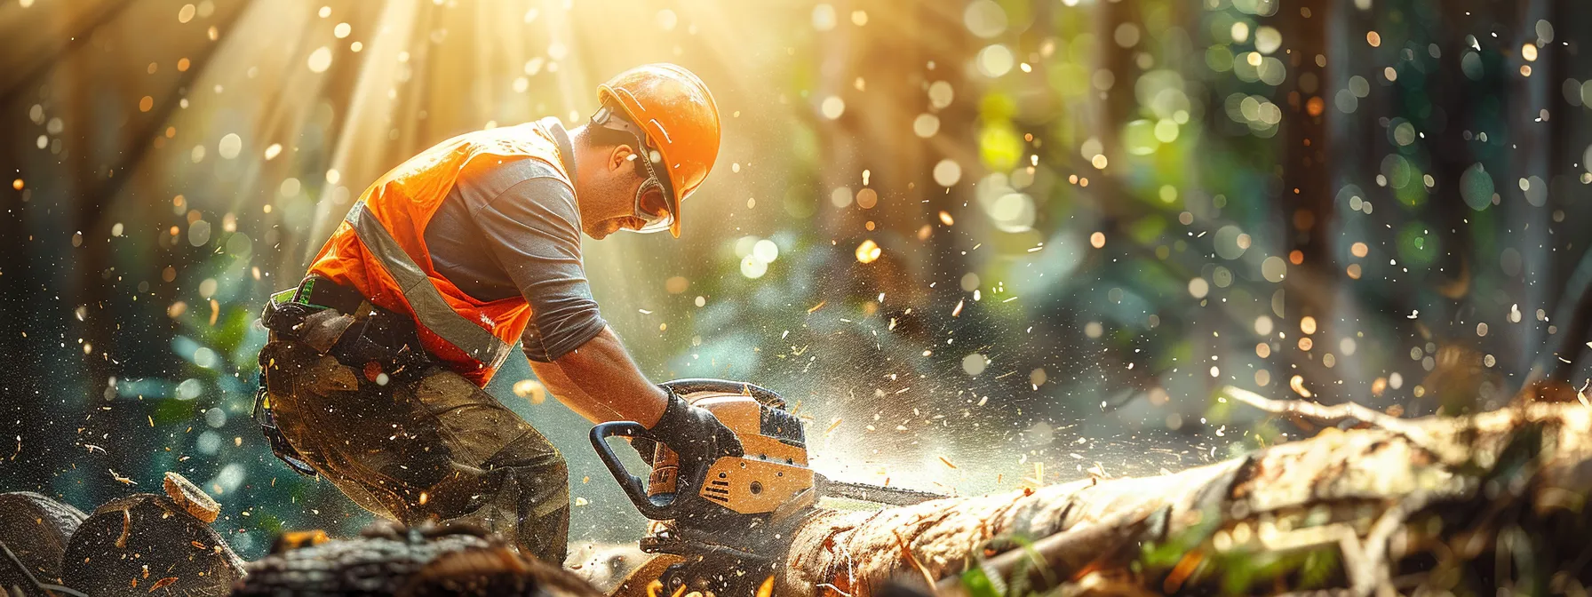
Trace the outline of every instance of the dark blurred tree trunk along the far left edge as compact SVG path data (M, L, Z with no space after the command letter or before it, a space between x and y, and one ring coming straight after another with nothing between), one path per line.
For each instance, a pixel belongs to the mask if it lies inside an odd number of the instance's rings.
M81 64L76 70L67 70L70 65L62 68L60 64L72 54L97 53L99 48L89 45L92 33L123 14L129 5L73 2L0 11L0 40L10 45L0 56L0 108L6 115L0 129L18 132L11 143L0 148L0 167L11 174L5 177L5 185L13 185L13 180L22 185L19 189L6 189L0 201L6 213L0 218L0 253L6 256L0 261L0 285L6 288L5 301L0 301L0 350L21 357L8 363L10 374L0 380L0 404L8 406L6 420L29 423L25 428L14 427L18 433L0 441L16 446L5 462L14 465L10 466L10 474L24 487L43 487L56 476L48 466L37 463L57 462L54 454L70 449L72 433L53 427L59 423L70 428L75 422L57 420L53 404L57 400L80 400L86 387L60 368L60 361L80 355L73 355L76 345L59 345L67 341L65 330L73 328L67 318L72 314L68 301L76 299L72 288L75 280L67 272L76 263L70 252L62 255L56 250L70 240L72 231L62 228L81 221L81 210L73 210L72 205L83 193L78 186L86 180L83 156L92 142L91 121L76 119L84 115L80 108L83 102L62 107L60 84L73 78L75 83L84 83L92 76L81 72ZM35 105L41 115L38 119L33 119ZM37 146L35 135L48 131L45 123L49 118L59 116L72 118L67 137L49 134L45 137L46 145ZM49 140L68 148L65 159L51 154ZM64 205L60 212L56 210L57 204ZM65 234L57 236L60 232ZM62 288L64 282L67 288ZM62 301L62 295L68 299ZM48 315L41 317L45 314ZM54 338L51 331L57 330L62 333ZM99 369L99 376L103 376L102 368Z

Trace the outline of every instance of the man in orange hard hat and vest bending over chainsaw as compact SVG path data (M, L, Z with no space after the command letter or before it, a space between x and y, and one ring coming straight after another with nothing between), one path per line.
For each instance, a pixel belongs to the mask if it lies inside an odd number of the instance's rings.
M640 422L683 463L740 454L637 369L581 264L581 232L680 236L680 204L718 156L718 108L670 64L619 73L599 99L573 131L478 131L403 162L272 296L259 409L285 462L379 516L481 524L562 564L564 457L481 388L516 341L586 419Z

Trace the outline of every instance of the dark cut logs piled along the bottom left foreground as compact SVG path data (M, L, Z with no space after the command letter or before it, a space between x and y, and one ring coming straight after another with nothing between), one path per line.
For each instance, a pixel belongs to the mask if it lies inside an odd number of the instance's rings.
M344 541L290 532L271 556L245 564L210 529L215 500L175 473L166 492L116 498L92 514L38 494L0 494L0 595L600 595L572 572L463 525L376 524Z

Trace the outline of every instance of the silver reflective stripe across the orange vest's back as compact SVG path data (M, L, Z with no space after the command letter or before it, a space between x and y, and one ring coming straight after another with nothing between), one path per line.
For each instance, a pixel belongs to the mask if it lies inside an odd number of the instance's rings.
M513 347L454 310L363 201L353 205L344 220L353 226L353 236L360 237L360 244L376 256L387 275L398 282L409 309L414 310L414 318L422 326L492 369L503 365Z

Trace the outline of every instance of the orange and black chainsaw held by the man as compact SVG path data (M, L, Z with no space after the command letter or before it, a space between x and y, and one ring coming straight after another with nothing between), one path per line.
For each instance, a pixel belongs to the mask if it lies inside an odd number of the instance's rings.
M681 471L678 454L635 422L599 423L592 447L642 516L645 552L659 554L634 570L613 595L702 592L751 595L774 573L780 538L790 538L820 498L907 506L944 495L901 487L831 481L807 466L801 419L772 390L723 379L677 379L662 384L693 406L707 409L740 439L743 455L707 463L700 487L696 471ZM608 438L653 441L651 471L643 481L608 444ZM659 583L646 589L651 583Z

